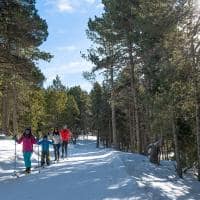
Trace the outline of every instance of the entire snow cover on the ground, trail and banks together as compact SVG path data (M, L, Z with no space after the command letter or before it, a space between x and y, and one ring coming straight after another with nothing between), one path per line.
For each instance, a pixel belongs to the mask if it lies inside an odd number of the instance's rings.
M13 172L15 143L1 139L1 199L200 199L200 183L192 177L177 178L173 162L162 161L161 166L155 166L145 156L95 146L94 137L81 137L76 145L70 144L68 159L42 169L41 173L8 179ZM37 165L38 147L34 149L33 165ZM17 168L21 169L21 145L17 145L17 158Z

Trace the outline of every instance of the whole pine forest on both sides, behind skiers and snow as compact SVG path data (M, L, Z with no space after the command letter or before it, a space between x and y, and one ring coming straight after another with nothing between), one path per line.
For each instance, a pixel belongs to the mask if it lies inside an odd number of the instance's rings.
M35 134L68 124L92 132L105 147L147 152L159 141L177 173L195 167L200 180L200 8L197 0L102 0L104 12L86 30L94 64L83 76L90 93L59 77L43 87L38 60L47 23L34 0L0 1L0 128ZM103 83L96 75L103 74ZM175 153L175 154L173 154Z

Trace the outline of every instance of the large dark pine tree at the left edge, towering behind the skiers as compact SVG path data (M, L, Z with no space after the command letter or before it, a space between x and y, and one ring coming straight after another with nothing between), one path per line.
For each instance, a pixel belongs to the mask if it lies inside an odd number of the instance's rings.
M35 1L1 1L0 72L3 80L3 110L5 111L5 116L2 117L2 126L5 127L4 131L6 132L8 132L9 116L11 115L8 112L8 106L13 108L13 128L17 129L18 94L16 90L19 91L18 86L21 81L28 85L42 85L44 76L34 61L51 58L50 54L38 49L47 36L47 24L38 15ZM5 100L11 105L5 103Z

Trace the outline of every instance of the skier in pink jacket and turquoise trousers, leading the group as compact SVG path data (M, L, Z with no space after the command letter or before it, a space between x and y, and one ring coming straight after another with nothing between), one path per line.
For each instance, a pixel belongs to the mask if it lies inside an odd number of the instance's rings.
M31 156L33 153L33 144L37 143L37 140L31 133L31 128L26 128L23 135L17 140L18 144L22 143L22 151L24 156L24 163L26 173L31 172Z

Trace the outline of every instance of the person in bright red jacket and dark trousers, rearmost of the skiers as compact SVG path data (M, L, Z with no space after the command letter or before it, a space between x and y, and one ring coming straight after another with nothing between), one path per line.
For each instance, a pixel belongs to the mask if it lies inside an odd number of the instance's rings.
M63 130L60 132L62 139L62 158L67 157L68 143L70 141L71 135L71 131L67 128L67 125L65 125Z

